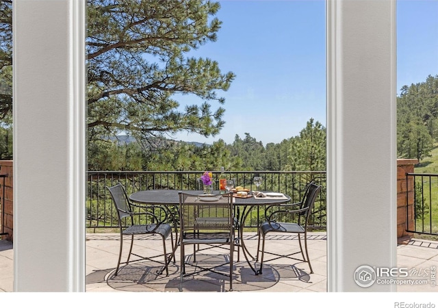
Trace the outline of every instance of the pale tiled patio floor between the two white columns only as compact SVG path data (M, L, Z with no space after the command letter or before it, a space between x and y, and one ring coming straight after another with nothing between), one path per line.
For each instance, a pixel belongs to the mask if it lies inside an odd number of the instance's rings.
M257 250L255 233L245 233L244 236L249 251L255 252ZM148 238L150 239L151 236ZM275 238L272 235L266 244L266 249L277 250L281 246L284 248L286 240L289 239L287 243L290 245L288 245L287 251L284 249L283 251L291 253L297 251L297 248L299 251L298 240L290 240L290 238L292 236ZM145 246L149 247L149 255L162 253L162 244L159 238L154 240L153 245L148 244L148 242L150 240L136 241L134 249L140 251L140 255L142 253L145 255ZM154 247L153 252L151 252L151 246ZM246 263L243 254L240 253L240 261L237 261L237 253L235 253L233 291L326 292L326 233L310 235L308 246L309 254L312 256L313 274L308 274L310 272L309 266L303 262L296 261L294 266L290 266L286 263L287 261L284 261L285 259L279 259L278 262L263 264L263 274L256 276ZM124 266L115 277L111 272L114 270L115 261L117 261L118 247L118 236L107 235L106 238L103 235L88 236L86 286L88 292L179 292L179 249L176 253L176 263L170 264L168 277L165 274L157 276L155 272L157 268L160 268L160 264L154 264L151 261L130 263L128 266ZM168 249L170 249L170 244ZM190 246L186 250L188 253L192 252ZM223 248L210 248L202 253L197 253L196 257L198 260L202 259L203 265L222 264L224 261L223 253ZM266 255L266 259L268 257ZM159 260L161 261L161 258ZM186 266L186 271L190 272L191 270L193 271L194 267ZM225 273L228 270L228 266L223 267ZM229 290L229 278L212 272L201 272L194 276L185 277L183 281L183 291L227 292Z

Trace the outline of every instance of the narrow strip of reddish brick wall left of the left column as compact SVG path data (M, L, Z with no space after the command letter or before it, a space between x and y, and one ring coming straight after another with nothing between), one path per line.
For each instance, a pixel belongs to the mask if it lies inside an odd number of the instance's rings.
M0 175L8 175L8 177L5 177L4 196L3 179L0 178L0 198L4 204L4 213L1 212L2 208L0 207L0 233L7 232L8 235L2 235L2 240L12 241L14 233L14 194L12 190L14 172L12 170L12 160L0 161Z

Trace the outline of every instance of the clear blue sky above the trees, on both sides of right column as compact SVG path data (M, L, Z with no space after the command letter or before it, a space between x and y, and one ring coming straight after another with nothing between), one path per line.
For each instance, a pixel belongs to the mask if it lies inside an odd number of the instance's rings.
M250 133L267 144L297 136L310 118L326 126L325 2L220 4L218 40L193 54L216 60L223 73L236 75L229 90L219 93L226 99L226 123L214 138L188 133L175 138L231 143L236 134ZM438 0L401 0L397 10L399 90L438 75ZM181 99L181 105L194 102Z

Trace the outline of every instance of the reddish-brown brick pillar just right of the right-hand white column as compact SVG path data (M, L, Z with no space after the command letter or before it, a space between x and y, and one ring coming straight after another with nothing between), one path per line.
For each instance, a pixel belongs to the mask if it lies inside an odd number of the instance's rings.
M415 164L418 164L417 159L397 159L397 238L412 235L406 230L408 222L409 226L413 226L414 223L413 178L410 177L407 180L406 174L414 172ZM407 191L409 192L408 199Z

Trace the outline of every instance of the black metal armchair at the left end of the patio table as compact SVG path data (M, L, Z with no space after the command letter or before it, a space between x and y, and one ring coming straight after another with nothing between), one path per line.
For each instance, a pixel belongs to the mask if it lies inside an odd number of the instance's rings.
M168 276L168 264L170 263L172 257L175 262L175 249L177 244L173 241L172 227L170 224L166 223L166 220L168 219L167 210L163 207L155 205L134 205L133 203L129 202L125 187L121 183L118 183L112 187L107 186L107 189L110 190L112 200L116 205L118 225L120 228L120 252L118 254L117 268L114 276L117 276L118 269L120 268L124 235L131 235L131 246L129 248L129 254L125 264L129 264L131 255L135 255L136 257L140 257L140 259L148 259L164 264L164 267L158 272L158 274L162 274L164 269L166 269L166 276ZM141 210L134 212L133 208L135 207L138 207ZM135 236L145 234L157 234L161 236L163 243L162 255L142 257L132 252ZM170 241L172 242L172 252L166 253L166 239L169 237L169 235ZM164 257L164 262L157 261L156 258L158 257Z

